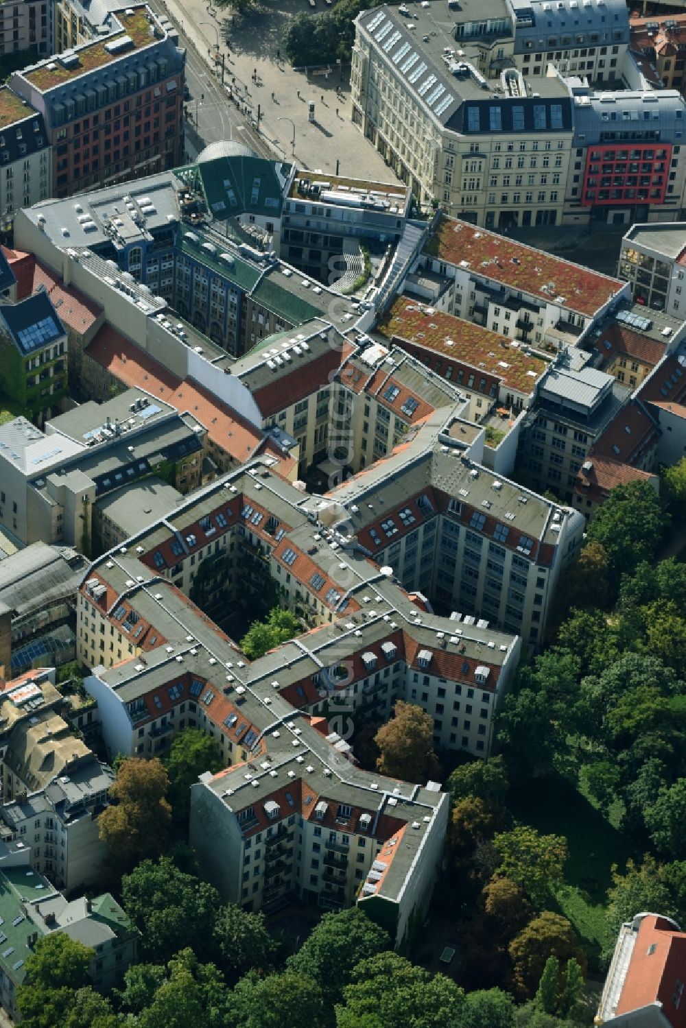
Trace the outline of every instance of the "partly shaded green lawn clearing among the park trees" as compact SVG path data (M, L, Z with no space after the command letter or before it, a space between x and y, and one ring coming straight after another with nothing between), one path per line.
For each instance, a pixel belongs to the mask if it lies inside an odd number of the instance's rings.
M576 928L588 954L589 970L600 971L610 869L616 864L624 870L627 857L636 855L630 844L563 779L531 782L526 793L510 797L508 807L522 824L567 839L567 884L556 893L559 913Z

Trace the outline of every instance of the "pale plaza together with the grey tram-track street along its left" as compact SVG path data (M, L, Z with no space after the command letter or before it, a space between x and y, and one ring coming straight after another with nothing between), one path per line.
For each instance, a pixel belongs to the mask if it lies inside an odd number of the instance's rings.
M350 87L340 69L331 68L328 76L324 70L308 81L304 72L294 71L281 60L285 29L305 0L283 0L278 8L265 6L234 30L229 15L207 0L152 0L152 5L177 25L181 44L188 50L192 100L186 137L191 156L204 142L229 139L232 134L262 156L290 160L295 137L294 157L302 168L335 172L339 161L341 174L395 181L391 169L350 120ZM318 5L323 7L323 0ZM213 61L217 43L225 61L223 87ZM315 102L314 122L309 120L311 100ZM200 132L194 125L196 102ZM258 105L259 135L254 130Z

